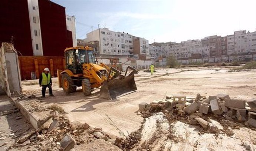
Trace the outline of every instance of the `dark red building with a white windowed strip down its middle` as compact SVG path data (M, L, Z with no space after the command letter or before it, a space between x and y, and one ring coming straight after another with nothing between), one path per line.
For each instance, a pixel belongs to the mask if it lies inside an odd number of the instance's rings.
M63 56L73 46L65 7L52 1L2 0L0 14L0 43L12 42L23 56Z

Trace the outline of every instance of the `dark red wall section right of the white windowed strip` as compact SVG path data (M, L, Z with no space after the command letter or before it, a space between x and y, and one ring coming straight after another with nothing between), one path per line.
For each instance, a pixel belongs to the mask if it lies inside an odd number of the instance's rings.
M65 7L49 0L38 0L44 56L64 56L72 47L72 32L66 28ZM70 37L71 36L71 37Z

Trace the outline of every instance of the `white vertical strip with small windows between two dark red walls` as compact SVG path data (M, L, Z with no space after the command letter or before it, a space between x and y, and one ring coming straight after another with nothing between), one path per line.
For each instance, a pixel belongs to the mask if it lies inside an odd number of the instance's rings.
M27 0L34 56L43 56L38 0Z

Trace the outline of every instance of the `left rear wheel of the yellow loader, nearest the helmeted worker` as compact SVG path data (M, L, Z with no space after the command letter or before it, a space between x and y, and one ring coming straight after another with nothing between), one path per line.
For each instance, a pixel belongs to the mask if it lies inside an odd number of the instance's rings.
M73 93L76 91L76 85L74 84L72 78L66 73L62 74L61 85L65 93Z

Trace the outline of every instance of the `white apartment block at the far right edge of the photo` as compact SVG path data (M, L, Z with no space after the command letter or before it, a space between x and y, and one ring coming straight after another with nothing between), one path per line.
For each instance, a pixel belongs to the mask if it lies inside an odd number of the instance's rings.
M233 35L227 36L227 54L249 54L256 52L256 31L234 31Z

